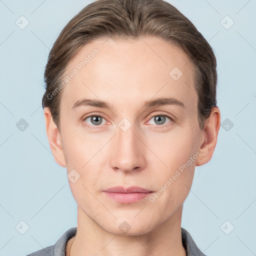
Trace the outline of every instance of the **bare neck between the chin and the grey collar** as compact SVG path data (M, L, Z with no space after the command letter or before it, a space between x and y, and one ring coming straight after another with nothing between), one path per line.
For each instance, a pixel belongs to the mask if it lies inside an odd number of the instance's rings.
M70 249L71 256L186 256L181 241L181 214L182 205L149 232L120 235L101 228L78 206L77 231L67 243L66 255Z

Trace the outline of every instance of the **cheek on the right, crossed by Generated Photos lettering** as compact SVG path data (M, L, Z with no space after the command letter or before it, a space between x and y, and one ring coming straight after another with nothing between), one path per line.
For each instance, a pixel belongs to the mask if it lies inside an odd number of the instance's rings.
M178 206L187 197L197 158L196 134L196 131L189 127L175 132L173 130L167 136L163 133L155 133L154 139L148 140L148 147L161 160L155 156L150 158L152 172L157 177L156 184L159 189L159 195L156 195L158 197L155 200L161 205L161 210ZM166 205L166 201L169 206Z

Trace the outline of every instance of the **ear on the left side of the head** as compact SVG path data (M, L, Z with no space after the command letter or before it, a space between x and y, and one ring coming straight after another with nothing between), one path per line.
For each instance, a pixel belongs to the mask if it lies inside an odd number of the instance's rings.
M51 152L54 156L56 163L62 167L66 167L60 134L58 132L56 124L52 120L50 109L48 107L44 107L43 113L45 119L46 133L50 144Z

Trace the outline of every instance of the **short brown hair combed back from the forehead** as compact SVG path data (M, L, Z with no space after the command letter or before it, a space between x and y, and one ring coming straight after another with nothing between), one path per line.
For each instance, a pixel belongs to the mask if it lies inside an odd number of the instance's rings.
M164 0L96 0L85 6L62 29L48 56L42 107L49 107L59 127L61 91L67 64L86 43L99 38L139 39L156 36L180 47L194 66L199 126L216 106L216 58L192 22ZM49 96L51 95L51 96Z

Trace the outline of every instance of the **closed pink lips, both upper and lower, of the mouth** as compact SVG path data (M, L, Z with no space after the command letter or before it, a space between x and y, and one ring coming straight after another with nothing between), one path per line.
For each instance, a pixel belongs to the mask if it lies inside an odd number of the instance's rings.
M117 202L132 203L149 196L153 191L139 186L130 186L127 188L124 188L123 186L114 186L105 189L103 193Z

